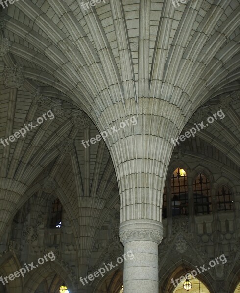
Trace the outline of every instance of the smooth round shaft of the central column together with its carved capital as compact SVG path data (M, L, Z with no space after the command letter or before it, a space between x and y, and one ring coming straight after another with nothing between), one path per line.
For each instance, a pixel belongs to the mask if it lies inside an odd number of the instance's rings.
M124 253L134 258L124 260L124 293L158 293L158 245L163 238L162 223L136 219L120 224L120 241Z

